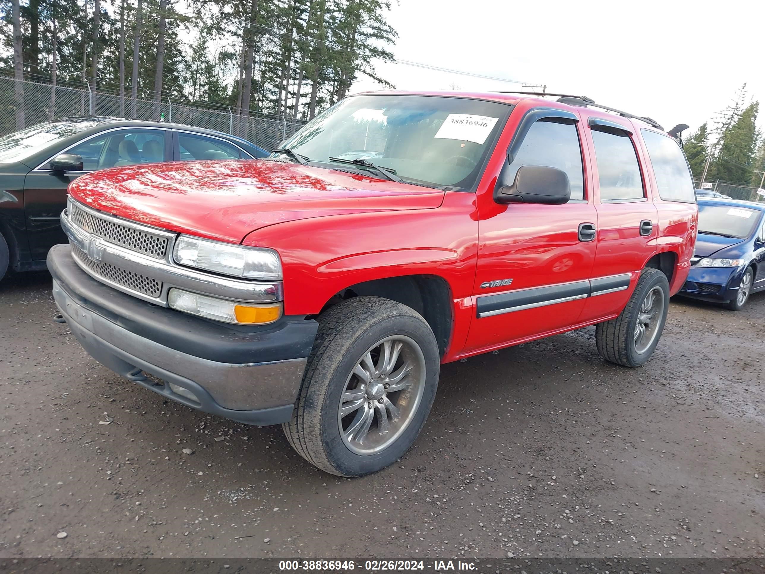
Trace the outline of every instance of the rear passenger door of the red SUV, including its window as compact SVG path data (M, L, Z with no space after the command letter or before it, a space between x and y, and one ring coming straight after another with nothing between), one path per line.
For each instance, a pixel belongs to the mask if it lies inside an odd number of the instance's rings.
M581 320L595 321L627 305L640 270L656 251L659 225L632 123L591 116L586 132L598 228L591 296Z

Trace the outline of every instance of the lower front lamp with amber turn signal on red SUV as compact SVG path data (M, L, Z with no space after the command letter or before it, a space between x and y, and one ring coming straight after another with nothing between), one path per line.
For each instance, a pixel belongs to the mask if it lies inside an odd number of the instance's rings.
M168 305L172 309L184 311L190 315L237 325L265 325L273 323L282 316L282 303L253 305L208 297L181 289L171 289L168 292Z

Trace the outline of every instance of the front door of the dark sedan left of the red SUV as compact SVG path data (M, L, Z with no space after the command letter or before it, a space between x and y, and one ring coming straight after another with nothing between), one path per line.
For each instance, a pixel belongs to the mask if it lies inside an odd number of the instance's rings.
M145 127L100 132L60 150L30 171L24 181L24 213L31 259L45 259L51 246L67 243L59 217L67 206L71 181L99 169L169 160L171 139L167 132ZM50 169L50 159L62 153L81 155L83 171Z

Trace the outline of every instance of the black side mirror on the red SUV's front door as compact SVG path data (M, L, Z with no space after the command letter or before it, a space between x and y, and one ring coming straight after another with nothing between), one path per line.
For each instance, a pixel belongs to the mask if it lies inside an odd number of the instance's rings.
M509 171L509 164L505 164L496 182L494 201L498 204L565 204L571 199L571 183L565 171L544 165L523 165L514 181L506 181Z

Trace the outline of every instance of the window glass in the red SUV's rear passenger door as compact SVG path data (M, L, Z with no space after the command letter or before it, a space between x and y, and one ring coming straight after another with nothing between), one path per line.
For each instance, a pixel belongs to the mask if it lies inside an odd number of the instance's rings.
M643 177L630 134L607 126L592 126L601 201L645 197Z

